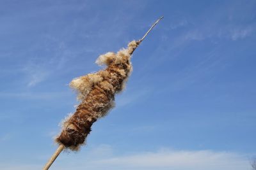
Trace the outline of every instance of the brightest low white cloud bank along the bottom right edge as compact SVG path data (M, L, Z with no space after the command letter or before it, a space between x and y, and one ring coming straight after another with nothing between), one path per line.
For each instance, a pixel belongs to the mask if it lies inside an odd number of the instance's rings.
M97 160L96 163L105 167L115 167L114 169L246 170L250 167L243 155L209 150L161 150Z

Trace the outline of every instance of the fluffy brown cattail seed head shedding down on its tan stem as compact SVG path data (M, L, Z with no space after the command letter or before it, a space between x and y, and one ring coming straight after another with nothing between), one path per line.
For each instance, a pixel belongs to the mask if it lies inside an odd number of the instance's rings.
M106 65L106 69L75 78L70 82L70 87L77 91L77 99L81 103L77 106L76 112L63 122L63 129L56 138L60 146L44 169L49 169L63 148L79 150L90 133L92 124L113 108L115 94L124 89L125 82L131 74L132 53L161 18L150 27L143 38L131 41L127 48L117 53L108 52L100 55L96 63Z

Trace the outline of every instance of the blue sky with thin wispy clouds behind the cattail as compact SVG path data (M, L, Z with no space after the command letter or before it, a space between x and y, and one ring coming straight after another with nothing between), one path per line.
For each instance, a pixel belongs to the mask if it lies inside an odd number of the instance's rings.
M41 169L78 104L68 83L162 15L115 109L51 169L250 169L255 10L255 1L0 1L0 169Z

